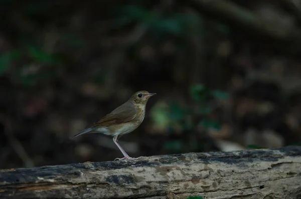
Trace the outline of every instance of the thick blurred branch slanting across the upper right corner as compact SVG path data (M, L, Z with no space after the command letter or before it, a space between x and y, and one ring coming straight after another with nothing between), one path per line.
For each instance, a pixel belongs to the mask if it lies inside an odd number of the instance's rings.
M224 0L189 0L183 2L199 13L206 14L242 30L246 35L268 39L277 50L299 55L301 37L299 30L281 27L277 22L262 19L256 14ZM284 47L284 48L283 48Z

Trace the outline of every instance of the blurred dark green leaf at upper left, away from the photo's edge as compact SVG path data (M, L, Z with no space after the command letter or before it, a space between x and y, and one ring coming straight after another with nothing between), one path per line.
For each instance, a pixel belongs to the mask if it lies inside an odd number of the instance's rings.
M38 63L41 64L57 64L58 60L54 55L40 50L34 46L27 47L29 55Z

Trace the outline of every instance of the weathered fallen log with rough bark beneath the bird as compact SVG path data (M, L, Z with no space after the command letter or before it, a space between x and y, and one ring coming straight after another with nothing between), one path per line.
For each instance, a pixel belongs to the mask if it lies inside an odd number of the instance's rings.
M0 170L0 198L301 198L301 147Z

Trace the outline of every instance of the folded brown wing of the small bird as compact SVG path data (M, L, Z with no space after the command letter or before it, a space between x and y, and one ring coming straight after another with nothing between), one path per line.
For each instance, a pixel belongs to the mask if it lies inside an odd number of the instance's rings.
M120 124L124 122L129 122L136 117L136 111L132 104L124 103L117 107L111 113L100 118L91 127L104 127L111 126L114 124Z

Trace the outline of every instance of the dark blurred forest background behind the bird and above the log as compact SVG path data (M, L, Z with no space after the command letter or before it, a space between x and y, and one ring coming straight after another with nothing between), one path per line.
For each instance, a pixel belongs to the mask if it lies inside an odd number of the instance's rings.
M132 157L301 143L301 1L0 2L0 168L122 157L70 136L139 90Z

